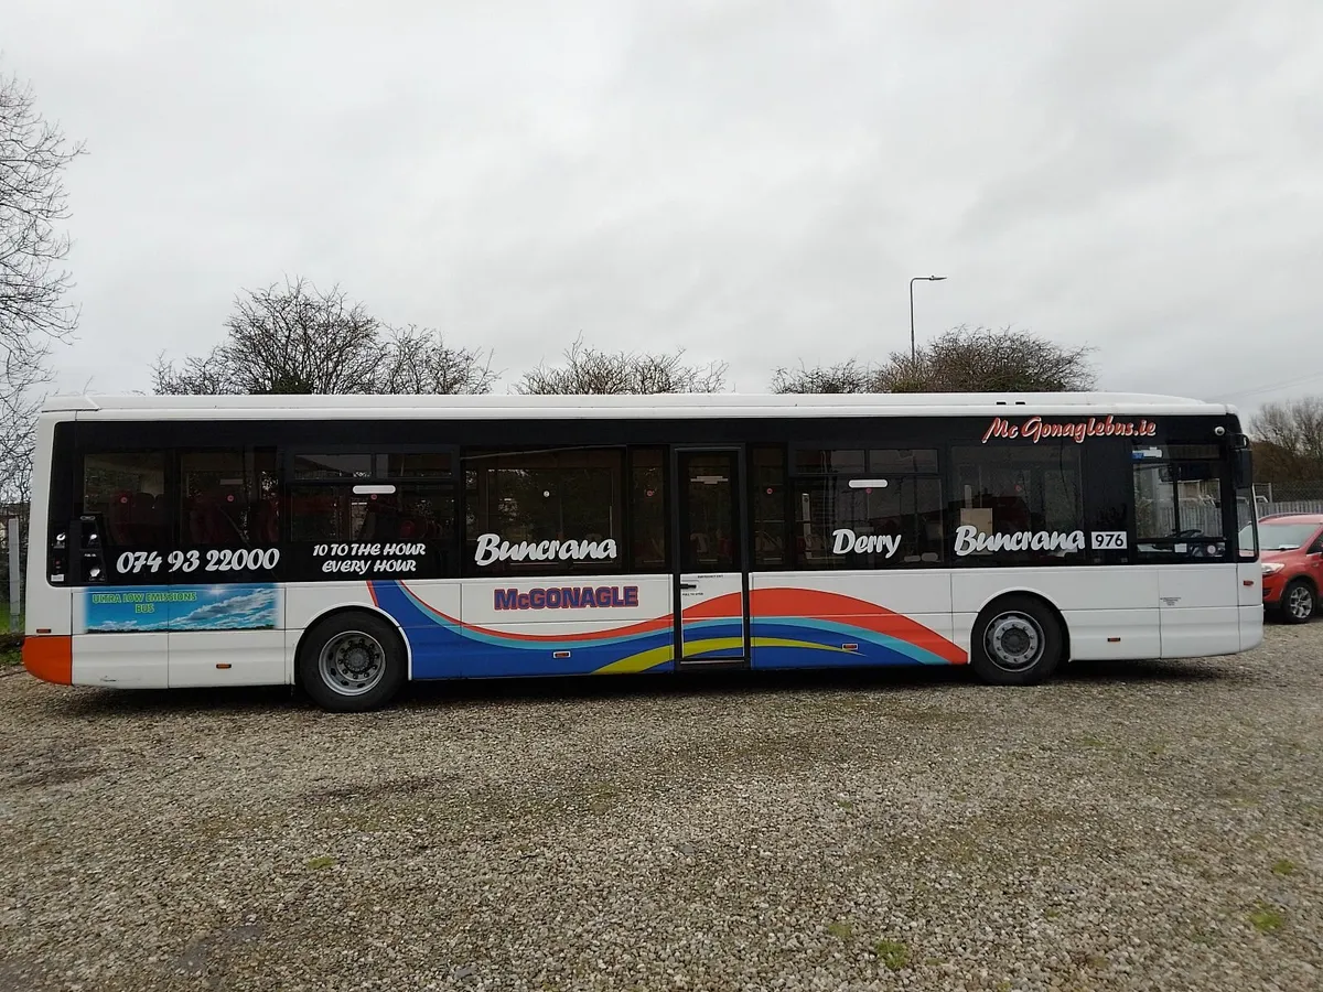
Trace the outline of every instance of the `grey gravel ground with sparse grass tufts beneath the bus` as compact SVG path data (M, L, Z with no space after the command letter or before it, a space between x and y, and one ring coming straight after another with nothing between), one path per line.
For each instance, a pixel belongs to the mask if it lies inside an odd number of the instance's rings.
M1323 623L1236 657L114 693L0 671L0 988L1318 989Z

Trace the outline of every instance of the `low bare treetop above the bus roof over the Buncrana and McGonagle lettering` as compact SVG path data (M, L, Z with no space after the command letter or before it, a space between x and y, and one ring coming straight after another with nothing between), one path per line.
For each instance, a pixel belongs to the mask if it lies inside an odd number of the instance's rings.
M564 365L545 362L524 373L516 393L528 395L605 395L615 393L720 393L726 364L685 365L684 349L656 354L603 352L579 337L565 352Z

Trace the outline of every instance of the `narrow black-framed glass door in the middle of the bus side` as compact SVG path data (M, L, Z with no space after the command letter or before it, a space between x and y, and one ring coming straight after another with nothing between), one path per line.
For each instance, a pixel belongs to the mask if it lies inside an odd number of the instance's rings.
M677 448L676 661L747 665L744 484L737 448Z

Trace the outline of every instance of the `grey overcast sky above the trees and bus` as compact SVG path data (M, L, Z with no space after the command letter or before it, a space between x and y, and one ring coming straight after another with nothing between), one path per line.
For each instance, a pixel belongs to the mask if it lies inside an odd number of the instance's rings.
M938 272L921 339L1323 393L1320 0L0 0L0 67L89 148L65 389L298 274L501 390L582 332L765 392L908 348Z

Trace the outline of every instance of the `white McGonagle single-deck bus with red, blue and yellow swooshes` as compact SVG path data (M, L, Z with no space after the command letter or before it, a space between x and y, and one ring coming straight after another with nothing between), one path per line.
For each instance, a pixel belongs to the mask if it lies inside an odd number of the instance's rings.
M1262 639L1248 443L1131 394L61 397L24 660L298 685L968 665Z

